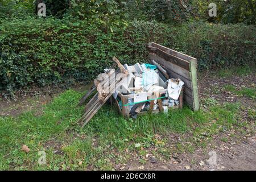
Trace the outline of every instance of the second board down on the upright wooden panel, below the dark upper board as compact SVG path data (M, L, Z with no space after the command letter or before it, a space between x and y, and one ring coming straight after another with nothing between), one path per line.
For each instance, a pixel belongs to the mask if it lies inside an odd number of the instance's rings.
M189 71L187 71L187 69L184 69L175 64L172 64L172 63L166 61L165 59L163 59L162 57L154 55L153 53L149 53L149 57L151 60L155 60L156 63L163 65L163 67L170 69L171 71L176 72L177 74L190 80L191 74Z

